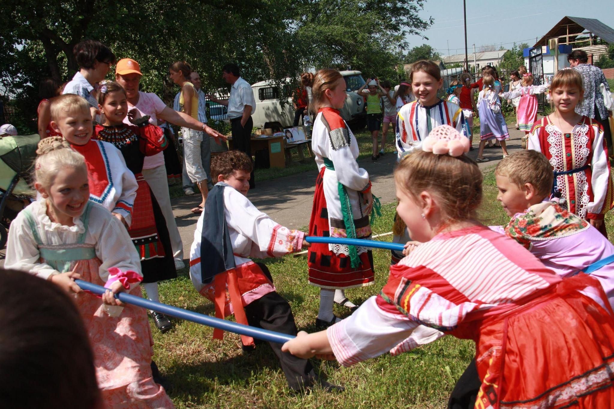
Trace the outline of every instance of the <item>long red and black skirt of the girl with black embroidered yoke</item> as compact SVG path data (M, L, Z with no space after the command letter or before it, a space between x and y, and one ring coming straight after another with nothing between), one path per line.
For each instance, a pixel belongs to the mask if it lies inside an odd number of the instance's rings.
M171 239L155 196L142 174L136 174L139 188L128 234L141 258L143 283L176 278Z

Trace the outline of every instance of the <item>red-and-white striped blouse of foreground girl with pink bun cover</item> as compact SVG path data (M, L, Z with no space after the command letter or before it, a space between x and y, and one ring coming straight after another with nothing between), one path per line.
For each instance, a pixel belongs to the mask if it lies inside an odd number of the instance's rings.
M421 337L434 340L559 281L528 250L488 227L439 234L392 266L382 293L329 327L328 341L342 365L353 365L402 352L398 345L421 325Z

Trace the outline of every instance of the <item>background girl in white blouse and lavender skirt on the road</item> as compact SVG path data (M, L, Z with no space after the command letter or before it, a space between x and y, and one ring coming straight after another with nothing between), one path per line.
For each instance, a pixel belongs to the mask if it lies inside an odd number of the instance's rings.
M507 131L505 118L501 113L501 101L495 90L494 77L490 74L484 74L482 77L483 88L478 94L478 112L480 112L480 150L478 150L478 162L488 162L488 158L484 158L484 146L491 139L496 139L501 143L503 150L503 158L507 156L507 148L505 140L510 139L510 134Z

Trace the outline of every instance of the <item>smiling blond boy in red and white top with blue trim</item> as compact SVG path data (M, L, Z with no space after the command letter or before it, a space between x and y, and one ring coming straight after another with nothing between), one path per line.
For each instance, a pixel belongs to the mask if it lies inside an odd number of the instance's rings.
M72 149L85 157L90 201L103 205L130 227L139 185L117 148L111 143L91 139L91 117L88 120L82 115L86 109L90 112L90 105L83 97L75 94L58 96L51 104L51 126L61 133Z

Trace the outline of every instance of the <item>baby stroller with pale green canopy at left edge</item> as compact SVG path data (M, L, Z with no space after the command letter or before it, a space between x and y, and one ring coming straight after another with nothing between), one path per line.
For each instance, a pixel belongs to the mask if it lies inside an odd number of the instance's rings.
M40 140L38 134L0 138L0 248L6 245L10 222L36 196L29 178Z

